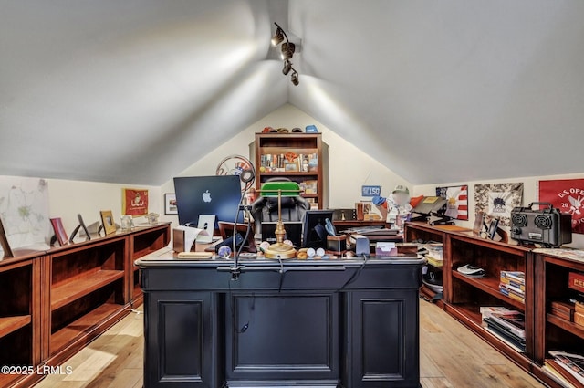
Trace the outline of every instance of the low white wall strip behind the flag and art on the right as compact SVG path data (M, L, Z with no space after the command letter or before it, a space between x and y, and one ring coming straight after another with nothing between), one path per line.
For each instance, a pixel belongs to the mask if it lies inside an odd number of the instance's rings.
M457 186L468 184L468 221L456 221L456 225L472 228L474 224L474 184L499 184L499 183L523 183L523 204L527 205L531 202L537 202L538 199L538 182L552 179L581 179L584 178L584 173L578 174L564 174L564 175L548 175L548 176L529 176L523 178L510 179L491 179L488 181L473 181L473 182L454 182L448 184L423 184L417 185L413 188L413 195L436 195L437 186ZM508 228L507 228L508 229ZM578 248L584 248L584 235L572 234L572 244Z

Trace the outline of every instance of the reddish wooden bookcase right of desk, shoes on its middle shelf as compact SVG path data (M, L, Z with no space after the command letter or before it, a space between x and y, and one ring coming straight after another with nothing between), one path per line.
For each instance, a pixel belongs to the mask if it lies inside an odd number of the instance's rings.
M405 240L437 241L443 243L443 309L463 323L476 335L501 351L527 372L533 371L537 352L538 328L535 323L536 263L531 249L474 236L472 232L448 231L439 227L413 222L405 227ZM485 269L485 277L472 278L457 271L472 264ZM526 277L525 302L502 294L499 289L502 270L522 271ZM526 317L526 351L520 352L506 341L483 327L480 308L503 306L516 309Z

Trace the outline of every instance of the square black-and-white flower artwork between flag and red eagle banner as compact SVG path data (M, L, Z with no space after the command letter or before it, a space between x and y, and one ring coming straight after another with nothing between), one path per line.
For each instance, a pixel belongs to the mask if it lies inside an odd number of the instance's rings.
M475 184L474 211L485 212L485 222L499 219L499 226L511 225L511 210L523 203L523 184Z

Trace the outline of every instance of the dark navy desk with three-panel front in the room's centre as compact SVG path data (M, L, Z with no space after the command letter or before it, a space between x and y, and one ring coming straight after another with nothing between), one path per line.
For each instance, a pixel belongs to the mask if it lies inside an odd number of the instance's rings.
M144 387L419 387L425 260L362 263L142 257Z

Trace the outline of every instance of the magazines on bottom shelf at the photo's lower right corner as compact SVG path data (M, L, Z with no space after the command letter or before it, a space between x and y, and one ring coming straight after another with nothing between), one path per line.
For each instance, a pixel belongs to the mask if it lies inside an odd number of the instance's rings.
M544 371L562 386L581 387L584 385L584 356L564 351L549 351Z

